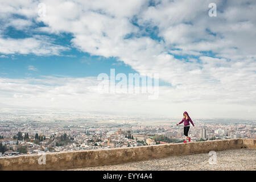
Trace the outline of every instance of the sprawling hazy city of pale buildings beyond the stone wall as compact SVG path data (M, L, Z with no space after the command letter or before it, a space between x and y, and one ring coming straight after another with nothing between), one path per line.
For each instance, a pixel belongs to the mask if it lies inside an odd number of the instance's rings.
M60 117L61 115L61 117ZM181 143L177 118L125 117L77 113L1 113L0 156L102 150ZM256 122L234 119L193 119L191 142L256 138Z

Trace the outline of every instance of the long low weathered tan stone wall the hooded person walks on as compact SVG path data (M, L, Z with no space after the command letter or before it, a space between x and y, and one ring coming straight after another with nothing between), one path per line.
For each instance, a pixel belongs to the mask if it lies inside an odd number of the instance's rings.
M206 142L158 144L154 146L53 152L45 155L20 155L0 158L0 170L60 170L105 164L121 164L174 155L199 154L238 148L256 149L256 139L226 139ZM40 159L39 159L40 158ZM38 162L40 161L40 162ZM39 164L40 163L40 164Z

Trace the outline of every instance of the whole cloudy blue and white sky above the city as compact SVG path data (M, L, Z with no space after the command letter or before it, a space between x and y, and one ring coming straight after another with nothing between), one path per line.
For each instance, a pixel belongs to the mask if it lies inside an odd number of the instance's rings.
M0 3L1 109L256 118L253 0ZM98 92L111 68L157 73L158 99Z

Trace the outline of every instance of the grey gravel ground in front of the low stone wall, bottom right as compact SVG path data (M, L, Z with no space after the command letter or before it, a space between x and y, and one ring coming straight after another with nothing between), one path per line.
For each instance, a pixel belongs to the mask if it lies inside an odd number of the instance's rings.
M150 170L256 170L256 150L239 149L217 151L217 164L209 164L208 153L144 160L125 164L85 167L78 171L150 171Z

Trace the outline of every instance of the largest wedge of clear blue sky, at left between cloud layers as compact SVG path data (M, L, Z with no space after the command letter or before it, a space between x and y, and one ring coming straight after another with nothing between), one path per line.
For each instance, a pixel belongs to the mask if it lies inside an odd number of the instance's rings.
M129 65L117 61L114 57L106 59L102 56L90 56L77 50L68 51L65 56L36 56L15 55L11 59L1 59L1 73L9 78L24 78L28 76L62 76L62 77L89 77L100 73L107 73L110 68L117 73L134 73ZM73 55L73 56L71 56ZM28 69L33 65L37 70Z

